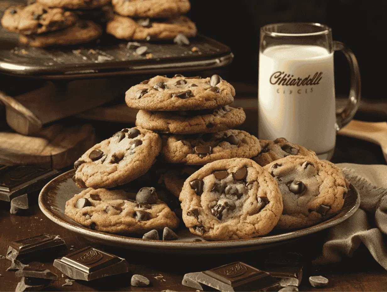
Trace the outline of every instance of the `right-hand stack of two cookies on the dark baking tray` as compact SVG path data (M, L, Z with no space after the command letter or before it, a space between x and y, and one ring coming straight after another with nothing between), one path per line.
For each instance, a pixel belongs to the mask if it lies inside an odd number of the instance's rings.
M123 40L172 40L196 36L197 29L183 16L189 0L112 0L115 16L106 26L107 33ZM189 42L188 42L189 43Z

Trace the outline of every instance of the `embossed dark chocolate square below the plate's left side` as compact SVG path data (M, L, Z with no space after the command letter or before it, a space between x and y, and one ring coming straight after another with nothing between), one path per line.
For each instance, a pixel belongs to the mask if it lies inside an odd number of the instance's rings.
M129 264L126 259L89 246L56 259L54 267L72 279L90 281L127 273Z

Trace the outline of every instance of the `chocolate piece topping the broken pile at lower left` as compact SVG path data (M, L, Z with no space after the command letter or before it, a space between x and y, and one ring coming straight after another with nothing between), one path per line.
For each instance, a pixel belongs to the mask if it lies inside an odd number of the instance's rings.
M65 241L59 235L43 233L12 242L8 246L7 259L18 261L34 257L48 257L67 250Z

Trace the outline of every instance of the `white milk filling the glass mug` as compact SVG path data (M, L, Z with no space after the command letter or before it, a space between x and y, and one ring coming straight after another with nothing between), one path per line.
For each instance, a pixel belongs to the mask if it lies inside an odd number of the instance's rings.
M259 54L260 139L284 137L325 153L335 145L335 121L333 53L313 45L278 45Z

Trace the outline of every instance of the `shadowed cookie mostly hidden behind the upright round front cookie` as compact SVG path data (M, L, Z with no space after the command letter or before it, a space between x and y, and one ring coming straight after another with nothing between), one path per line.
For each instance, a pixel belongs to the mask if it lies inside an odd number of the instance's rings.
M165 184L165 187L176 197L180 196L182 191L184 181L197 171L200 167L195 166L176 166L173 165L173 168L168 169L163 173L162 180Z

